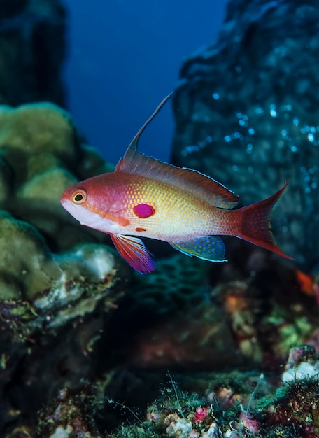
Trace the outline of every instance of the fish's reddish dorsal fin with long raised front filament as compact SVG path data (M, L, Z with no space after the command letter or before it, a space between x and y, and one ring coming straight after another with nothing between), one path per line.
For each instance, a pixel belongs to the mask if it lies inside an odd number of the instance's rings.
M160 111L165 102L171 97L171 94L165 97L155 109L154 113L146 120L144 125L139 129L139 132L134 136L134 139L129 144L123 158L115 167L115 172L125 172L126 174L134 174L146 176L157 181L169 183L176 187L184 188L192 192L197 198L202 197L210 204L224 209L232 209L238 203L238 197L233 192L225 188L224 185L213 180L209 176L200 172L185 167L176 167L173 164L168 164L156 160L153 157L148 157L137 150L139 138L155 115Z

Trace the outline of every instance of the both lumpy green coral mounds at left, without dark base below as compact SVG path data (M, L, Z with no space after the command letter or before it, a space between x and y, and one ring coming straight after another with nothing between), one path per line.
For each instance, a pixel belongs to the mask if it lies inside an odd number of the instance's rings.
M120 265L60 205L63 190L102 162L69 114L45 103L2 106L0 126L0 318L25 339L94 311Z

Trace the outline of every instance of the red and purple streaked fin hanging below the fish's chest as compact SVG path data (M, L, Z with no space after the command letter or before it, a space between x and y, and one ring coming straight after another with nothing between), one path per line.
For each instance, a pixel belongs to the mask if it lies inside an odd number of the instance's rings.
M150 274L155 271L152 254L146 249L141 239L122 234L110 234L110 236L115 248L132 268L141 274Z

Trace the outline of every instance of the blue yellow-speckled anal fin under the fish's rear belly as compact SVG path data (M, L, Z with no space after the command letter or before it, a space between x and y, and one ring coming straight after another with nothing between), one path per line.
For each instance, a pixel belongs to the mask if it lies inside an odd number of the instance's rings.
M170 242L173 248L181 253L194 255L211 262L227 262L225 260L225 245L217 236L202 236L184 242Z

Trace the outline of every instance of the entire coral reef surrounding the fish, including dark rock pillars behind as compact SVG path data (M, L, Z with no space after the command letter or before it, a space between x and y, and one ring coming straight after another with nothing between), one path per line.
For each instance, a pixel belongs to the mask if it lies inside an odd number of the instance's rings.
M0 14L0 60L16 35L44 59L15 52L8 71L33 86L10 94L19 79L3 76L1 99L61 103L59 1L6 0ZM177 164L240 187L244 204L292 177L277 217L302 271L226 238L225 264L150 242L157 269L135 274L59 203L113 167L58 106L1 106L1 437L319 436L317 15L311 1L231 1L218 45L185 62L174 97Z

